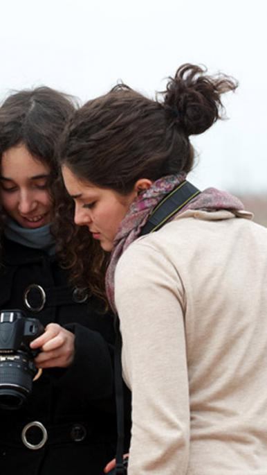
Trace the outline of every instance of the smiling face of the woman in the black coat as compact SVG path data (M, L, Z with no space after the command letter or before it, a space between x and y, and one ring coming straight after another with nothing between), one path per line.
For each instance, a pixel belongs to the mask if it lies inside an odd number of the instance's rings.
M52 202L48 192L50 168L26 146L8 148L1 159L0 198L6 213L22 227L35 229L50 223Z

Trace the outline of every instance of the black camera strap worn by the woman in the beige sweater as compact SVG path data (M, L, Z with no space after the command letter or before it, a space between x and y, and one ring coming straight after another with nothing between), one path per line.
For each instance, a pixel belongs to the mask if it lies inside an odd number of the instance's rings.
M169 218L181 211L193 198L199 195L201 191L194 187L190 182L185 180L169 193L160 203L154 208L147 223L142 228L140 236L149 234L159 230ZM116 388L116 408L117 408L117 454L116 454L116 469L111 472L116 475L127 474L127 469L123 463L123 444L125 438L125 424L124 424L124 402L123 402L123 386L122 386L122 336L120 334L120 320L116 315L116 343L115 343L115 388Z

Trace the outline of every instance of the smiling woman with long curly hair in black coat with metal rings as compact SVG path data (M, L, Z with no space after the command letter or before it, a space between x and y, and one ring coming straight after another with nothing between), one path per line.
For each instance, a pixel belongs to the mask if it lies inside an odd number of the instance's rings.
M9 314L8 325L15 327L13 309L44 326L30 343L31 351L39 350L34 363L42 370L31 394L19 370L10 377L0 356L1 475L82 474L84 467L100 475L115 451L113 317L90 262L95 254L97 266L104 265L104 252L87 233L83 288L73 283L74 274L69 282L75 257L64 252L67 210L73 205L57 179L55 155L74 110L71 97L49 87L12 94L0 107L0 308L5 310L0 332ZM55 190L64 209L55 203ZM55 226L52 232L56 212L66 221L63 241ZM73 229L73 242L75 235L80 242L84 229ZM1 337L6 354L5 334ZM26 352L23 345L14 364L21 351Z

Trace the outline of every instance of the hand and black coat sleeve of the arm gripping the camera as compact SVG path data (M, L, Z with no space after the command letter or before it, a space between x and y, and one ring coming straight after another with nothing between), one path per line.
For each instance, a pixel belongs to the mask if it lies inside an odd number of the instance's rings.
M47 325L30 346L42 347L35 362L49 368L50 376L81 399L103 399L113 394L112 347L97 331L78 323ZM82 382L82 384L81 384Z

